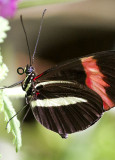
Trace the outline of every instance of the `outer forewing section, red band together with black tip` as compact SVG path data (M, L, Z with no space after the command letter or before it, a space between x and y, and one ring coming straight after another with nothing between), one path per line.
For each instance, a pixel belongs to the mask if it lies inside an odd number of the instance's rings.
M104 110L115 106L115 51L81 58L86 73L86 85L103 100Z

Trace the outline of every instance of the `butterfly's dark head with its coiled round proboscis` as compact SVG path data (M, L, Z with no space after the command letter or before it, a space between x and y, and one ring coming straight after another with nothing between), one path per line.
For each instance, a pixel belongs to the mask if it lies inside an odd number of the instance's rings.
M33 68L31 65L28 65L28 64L27 64L27 66L25 67L25 69L22 68L22 67L19 67L19 68L17 69L17 73L18 73L19 75L22 75L22 74L24 74L24 73L26 73L26 75L28 75L28 74L30 74L30 73L32 73L32 72L34 72L34 68Z

